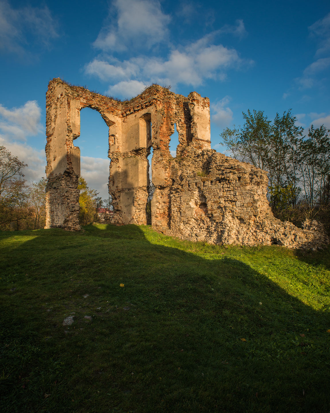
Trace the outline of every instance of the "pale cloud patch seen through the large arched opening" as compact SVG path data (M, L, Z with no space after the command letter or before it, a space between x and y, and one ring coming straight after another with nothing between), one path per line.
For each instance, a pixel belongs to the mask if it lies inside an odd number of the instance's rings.
M110 159L87 156L82 156L80 158L80 175L85 178L89 188L99 192L99 196L102 197L102 199L107 199L109 197L109 164Z

